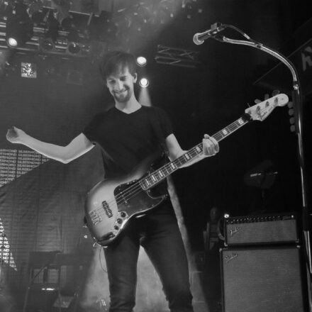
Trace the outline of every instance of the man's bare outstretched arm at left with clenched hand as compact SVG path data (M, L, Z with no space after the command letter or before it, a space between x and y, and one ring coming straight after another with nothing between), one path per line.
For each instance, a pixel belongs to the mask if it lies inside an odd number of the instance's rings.
M6 139L11 143L26 145L32 150L64 164L84 155L94 147L83 133L80 133L66 146L45 143L37 140L16 127L12 127L8 130L6 133Z

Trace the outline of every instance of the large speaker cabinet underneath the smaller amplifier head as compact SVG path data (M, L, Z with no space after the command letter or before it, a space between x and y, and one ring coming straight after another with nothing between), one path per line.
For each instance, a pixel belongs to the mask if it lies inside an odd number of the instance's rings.
M224 312L304 312L299 247L221 250Z

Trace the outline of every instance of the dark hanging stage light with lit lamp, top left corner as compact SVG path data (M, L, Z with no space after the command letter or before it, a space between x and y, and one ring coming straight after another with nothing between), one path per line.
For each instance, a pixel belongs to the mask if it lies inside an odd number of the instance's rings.
M26 4L18 2L6 20L6 44L9 48L23 45L33 35L33 21L26 9Z

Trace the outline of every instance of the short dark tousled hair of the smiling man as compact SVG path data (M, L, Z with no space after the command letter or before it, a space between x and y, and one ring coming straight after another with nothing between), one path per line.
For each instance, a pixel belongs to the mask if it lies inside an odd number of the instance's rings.
M133 76L135 75L135 57L132 54L123 51L107 52L106 55L104 55L99 66L101 77L104 81L106 81L106 78L109 75L118 71L120 68L123 69L125 67L128 67L130 74L132 74Z

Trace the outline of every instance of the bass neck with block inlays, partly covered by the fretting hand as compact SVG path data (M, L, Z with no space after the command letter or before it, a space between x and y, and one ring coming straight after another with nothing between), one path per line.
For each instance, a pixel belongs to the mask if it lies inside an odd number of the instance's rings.
M250 116L248 114L245 114L242 117L238 118L237 121L234 121L229 126L223 128L222 130L218 131L212 136L218 142L220 142L221 140L228 137L228 135L232 134L239 128L245 126L245 124L248 123L249 121ZM203 152L203 143L195 145L190 150L185 152L183 155L177 157L177 159L172 160L172 162L168 162L166 165L160 167L151 174L148 174L143 179L140 179L140 186L144 190L150 189L152 186L155 186L156 184L162 182L162 180L166 179L169 176L169 174L172 174L186 163L191 162L191 160L194 160L201 154L201 152Z

